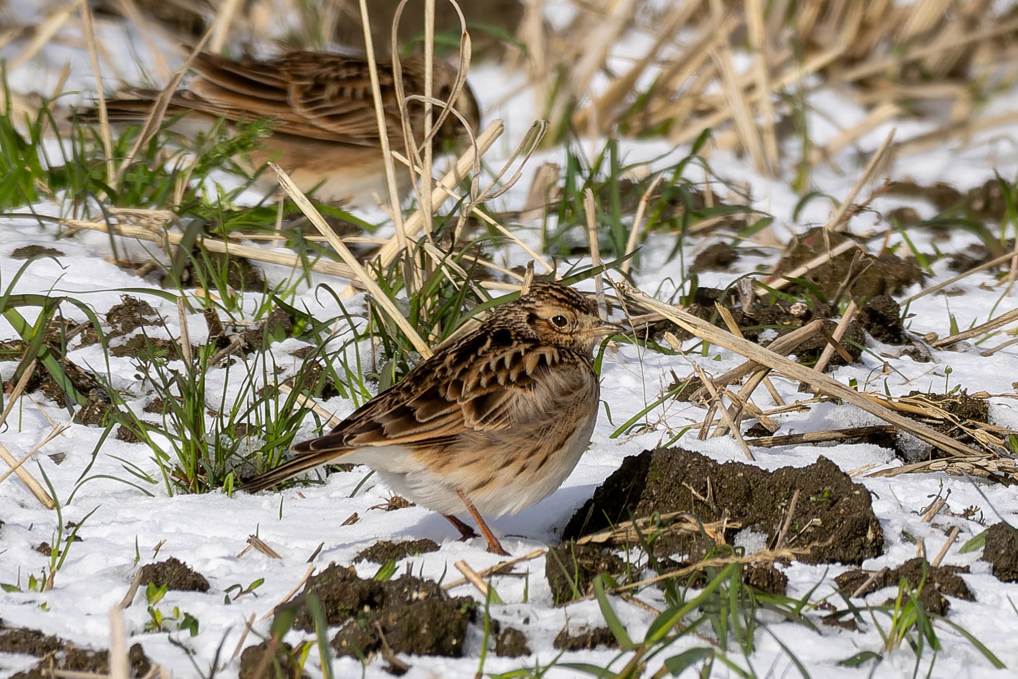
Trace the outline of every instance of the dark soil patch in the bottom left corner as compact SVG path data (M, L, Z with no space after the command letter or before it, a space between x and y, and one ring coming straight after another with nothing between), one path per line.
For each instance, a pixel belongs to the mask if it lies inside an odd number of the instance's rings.
M70 641L38 629L7 627L0 623L0 653L23 654L42 659L38 665L18 672L11 679L50 679L53 670L60 672L87 672L107 675L110 672L108 650L78 648ZM144 677L152 670L142 646L137 643L127 654L132 677Z

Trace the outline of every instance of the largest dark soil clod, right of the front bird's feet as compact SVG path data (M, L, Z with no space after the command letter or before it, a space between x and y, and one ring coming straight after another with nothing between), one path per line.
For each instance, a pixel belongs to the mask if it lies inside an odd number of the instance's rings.
M721 520L724 514L743 528L766 533L773 544L796 490L799 499L785 547L808 547L808 554L797 557L800 561L860 564L883 553L884 531L869 492L831 460L821 457L806 467L768 471L740 462L718 463L681 448L647 450L625 458L569 520L563 539L574 540L656 512L681 511L703 522ZM653 548L662 557L698 558L704 546L698 536L663 531Z

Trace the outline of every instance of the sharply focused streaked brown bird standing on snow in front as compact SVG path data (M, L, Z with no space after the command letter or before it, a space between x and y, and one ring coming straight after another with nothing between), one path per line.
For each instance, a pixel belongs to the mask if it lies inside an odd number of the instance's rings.
M476 534L454 516L465 507L488 551L505 555L482 516L515 514L572 472L598 417L593 349L621 331L572 288L534 282L242 488L261 491L336 460L365 464L396 493L443 514L463 540Z

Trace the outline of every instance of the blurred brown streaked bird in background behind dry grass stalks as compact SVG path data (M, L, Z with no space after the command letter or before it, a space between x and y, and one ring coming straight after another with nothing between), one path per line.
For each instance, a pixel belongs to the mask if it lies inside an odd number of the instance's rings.
M404 59L402 79L407 96L425 92L421 59ZM268 161L278 163L304 192L328 203L375 205L387 200L388 185L381 137L375 115L367 61L326 52L290 52L266 61L235 61L209 53L195 56L194 76L186 90L170 100L166 119L180 116L174 129L193 135L222 118L229 123L268 119L276 123L261 148L245 154L243 165L253 171ZM391 62L379 62L379 80L389 143L404 152L395 76ZM433 95L448 101L456 81L456 68L436 61ZM131 99L107 101L111 122L144 121L160 92L131 90ZM419 104L408 105L414 138L423 137ZM453 107L476 129L477 103L464 84ZM441 113L436 108L435 120ZM98 119L98 111L83 113ZM465 130L449 113L436 134L436 146L453 140ZM405 153L403 154L406 155ZM409 174L396 164L400 194L409 188ZM262 174L266 187L276 187L275 176Z

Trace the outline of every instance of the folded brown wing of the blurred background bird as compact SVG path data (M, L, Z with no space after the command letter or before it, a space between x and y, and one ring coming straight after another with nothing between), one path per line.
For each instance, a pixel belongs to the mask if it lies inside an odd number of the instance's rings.
M383 64L384 66L384 64ZM174 103L231 121L268 118L276 131L376 146L378 121L366 64L341 55L293 52L271 61L200 54L197 77ZM391 68L379 69L387 128L401 138Z

